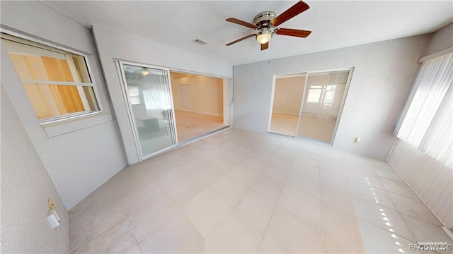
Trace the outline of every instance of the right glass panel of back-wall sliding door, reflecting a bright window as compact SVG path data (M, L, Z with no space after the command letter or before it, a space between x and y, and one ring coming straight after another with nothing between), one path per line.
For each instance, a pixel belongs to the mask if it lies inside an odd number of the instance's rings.
M297 136L331 142L349 71L309 73Z

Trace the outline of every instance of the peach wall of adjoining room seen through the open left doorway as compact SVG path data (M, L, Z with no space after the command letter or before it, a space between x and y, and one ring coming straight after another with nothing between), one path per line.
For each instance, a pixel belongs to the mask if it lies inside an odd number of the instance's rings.
M223 116L224 97L223 79L212 78L201 75L192 75L186 78L173 78L171 90L175 109L184 110L181 107L179 85L190 85L191 109L190 111Z

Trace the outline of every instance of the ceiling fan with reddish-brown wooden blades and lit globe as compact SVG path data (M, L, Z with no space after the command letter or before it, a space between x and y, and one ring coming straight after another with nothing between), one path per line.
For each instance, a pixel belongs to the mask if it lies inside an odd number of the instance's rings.
M228 22L236 23L238 25L243 25L248 28L258 30L258 32L253 35L247 35L245 37L242 37L241 39L235 40L234 42L230 42L229 44L226 44L226 46L230 46L232 44L235 44L236 42L241 42L242 40L246 40L250 37L255 36L256 40L258 40L258 42L260 42L261 44L261 50L265 50L268 49L270 38L272 38L273 35L307 37L310 35L311 31L289 28L277 28L277 26L281 25L290 18L293 18L294 16L297 16L300 13L308 10L309 8L310 8L309 5L301 0L277 17L275 17L275 12L273 11L262 11L258 13L258 15L255 16L255 18L253 18L254 24L248 23L243 20L239 20L237 18L227 18L226 21Z

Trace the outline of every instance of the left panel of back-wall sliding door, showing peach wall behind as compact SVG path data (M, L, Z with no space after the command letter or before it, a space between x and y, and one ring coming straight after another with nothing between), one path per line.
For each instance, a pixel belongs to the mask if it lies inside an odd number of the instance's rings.
M295 136L304 92L305 75L276 78L269 131Z

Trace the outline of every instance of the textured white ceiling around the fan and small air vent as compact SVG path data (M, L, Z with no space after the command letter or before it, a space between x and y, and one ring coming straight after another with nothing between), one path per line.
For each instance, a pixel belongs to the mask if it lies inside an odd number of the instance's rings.
M275 35L260 51L255 30L226 22L252 23L260 11L277 15L297 1L42 1L90 28L122 30L233 65L321 52L421 35L453 21L453 1L306 1L309 10L280 28L311 30L307 38ZM195 39L208 42L200 45Z

